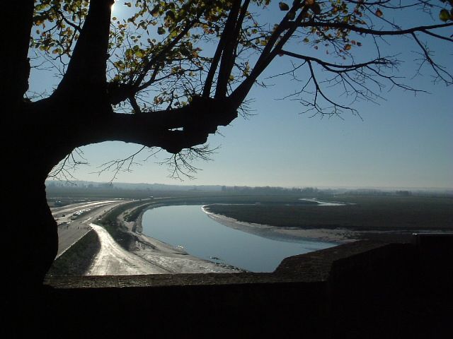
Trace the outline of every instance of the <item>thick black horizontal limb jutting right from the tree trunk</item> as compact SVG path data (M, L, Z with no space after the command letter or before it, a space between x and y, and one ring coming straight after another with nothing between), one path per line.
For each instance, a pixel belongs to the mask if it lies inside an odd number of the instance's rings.
M226 126L237 117L229 100L194 97L190 105L179 109L142 114L111 114L84 131L83 145L101 141L125 141L147 147L161 147L178 153L207 141L218 126Z

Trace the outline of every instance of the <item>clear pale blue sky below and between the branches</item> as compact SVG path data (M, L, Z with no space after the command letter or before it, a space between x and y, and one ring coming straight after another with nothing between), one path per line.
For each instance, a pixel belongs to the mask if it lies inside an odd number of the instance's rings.
M123 10L117 1L115 16ZM395 42L392 42L395 43ZM398 44L411 53L413 45ZM407 44L407 46L406 46ZM394 44L389 44L392 49ZM398 46L398 47L400 47ZM369 49L365 46L365 54ZM436 57L445 64L453 49L441 47ZM413 57L413 55L412 55ZM282 58L283 59L283 58ZM451 61L449 61L451 64ZM406 74L406 66L402 74ZM262 79L289 67L274 61ZM407 73L409 74L409 73ZM288 78L269 79L269 88L254 88L248 95L253 110L248 119L239 117L230 126L220 127L208 143L217 148L211 161L196 161L200 168L195 179L183 182L168 177L171 170L159 162L168 157L137 157L132 172L117 174L117 182L226 186L312 186L381 188L453 188L453 109L452 86L432 84L428 75L408 78L414 87L428 93L414 95L386 88L379 105L358 102L360 117L349 113L339 117L310 117L301 114L297 101L278 100L299 84ZM33 76L33 74L32 74ZM35 73L30 89L49 86L48 74ZM81 148L90 165L74 172L79 180L108 182L113 172L98 174L108 160L127 157L140 145L108 142ZM115 182L114 182L115 183Z

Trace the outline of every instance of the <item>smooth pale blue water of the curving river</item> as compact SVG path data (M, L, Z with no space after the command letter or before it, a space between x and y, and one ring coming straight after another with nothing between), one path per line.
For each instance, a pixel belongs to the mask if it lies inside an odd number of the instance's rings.
M241 232L219 224L202 206L164 206L143 215L143 234L189 254L253 272L272 272L283 258L326 249L328 242L283 242Z

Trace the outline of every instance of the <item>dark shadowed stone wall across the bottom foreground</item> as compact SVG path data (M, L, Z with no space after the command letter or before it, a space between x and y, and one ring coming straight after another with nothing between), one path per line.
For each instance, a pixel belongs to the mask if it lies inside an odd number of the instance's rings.
M100 338L447 338L453 281L440 274L432 290L437 279L423 277L432 258L451 268L452 240L442 256L421 242L354 242L286 258L274 273L50 277L23 324Z

